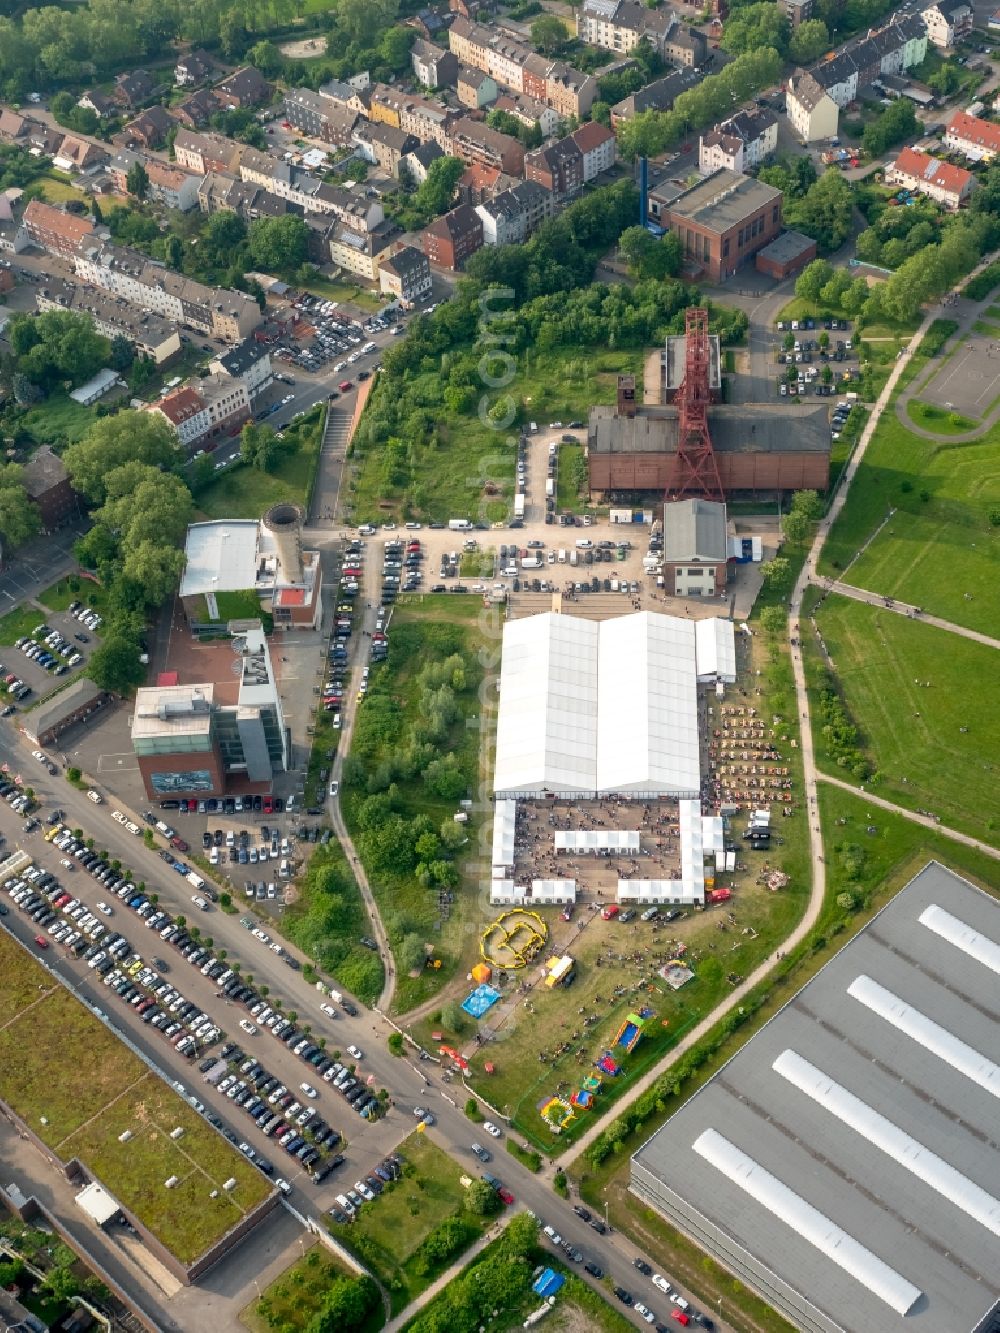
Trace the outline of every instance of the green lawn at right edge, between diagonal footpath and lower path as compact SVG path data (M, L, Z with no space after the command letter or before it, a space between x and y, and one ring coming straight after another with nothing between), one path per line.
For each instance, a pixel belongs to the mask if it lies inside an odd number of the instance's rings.
M989 688L995 651L847 597L827 597L815 615L848 712L877 768L872 790L1000 844L1000 704ZM843 776L821 734L817 754L824 768Z

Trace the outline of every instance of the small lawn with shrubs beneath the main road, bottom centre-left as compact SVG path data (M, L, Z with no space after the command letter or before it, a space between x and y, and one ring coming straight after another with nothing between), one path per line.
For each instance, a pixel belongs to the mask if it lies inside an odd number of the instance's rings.
M427 1134L411 1134L397 1149L403 1178L385 1186L373 1204L365 1204L348 1226L332 1226L333 1234L389 1289L392 1313L399 1314L437 1276L417 1273L413 1256L431 1232L461 1209L464 1169ZM473 1178L479 1172L473 1172ZM489 1218L461 1214L469 1224L469 1244ZM444 1268L455 1262L449 1260Z

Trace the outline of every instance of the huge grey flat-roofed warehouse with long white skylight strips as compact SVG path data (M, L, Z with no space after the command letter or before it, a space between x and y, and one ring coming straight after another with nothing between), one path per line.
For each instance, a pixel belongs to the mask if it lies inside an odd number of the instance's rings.
M1000 908L931 862L644 1144L632 1192L807 1333L995 1330L999 973Z

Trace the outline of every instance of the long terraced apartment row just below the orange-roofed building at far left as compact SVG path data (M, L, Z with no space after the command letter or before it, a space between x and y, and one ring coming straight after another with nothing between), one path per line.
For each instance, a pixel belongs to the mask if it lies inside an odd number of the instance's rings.
M227 343L241 343L261 321L245 292L205 287L125 247L88 245L72 261L81 281Z

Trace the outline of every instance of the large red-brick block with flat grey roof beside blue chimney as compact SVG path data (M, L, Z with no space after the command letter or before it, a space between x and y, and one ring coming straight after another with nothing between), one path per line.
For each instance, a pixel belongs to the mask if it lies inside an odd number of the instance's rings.
M781 231L781 191L717 171L680 191L655 219L677 233L687 264L723 283Z

